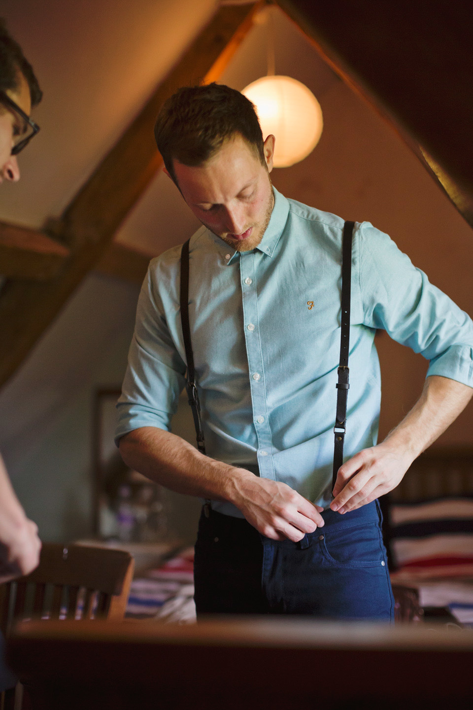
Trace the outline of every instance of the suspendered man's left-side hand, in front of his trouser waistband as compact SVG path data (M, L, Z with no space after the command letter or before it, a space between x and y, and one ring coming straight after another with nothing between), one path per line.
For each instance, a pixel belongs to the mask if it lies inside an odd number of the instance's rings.
M324 525L323 508L314 506L286 484L260 479L244 469L238 469L235 479L235 506L265 537L299 542L306 532Z

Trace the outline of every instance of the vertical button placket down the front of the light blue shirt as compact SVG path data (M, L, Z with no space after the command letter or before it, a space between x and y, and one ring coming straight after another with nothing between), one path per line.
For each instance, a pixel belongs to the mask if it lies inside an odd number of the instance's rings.
M263 478L274 479L272 457L272 436L269 429L265 377L262 361L260 328L258 323L256 268L254 253L240 253L240 278L243 296L243 323L250 372L250 391L253 422L257 435L258 465Z

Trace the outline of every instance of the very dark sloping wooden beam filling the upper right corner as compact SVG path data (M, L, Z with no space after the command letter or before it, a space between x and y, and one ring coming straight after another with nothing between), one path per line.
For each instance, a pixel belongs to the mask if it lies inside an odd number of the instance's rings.
M469 0L276 0L473 226Z

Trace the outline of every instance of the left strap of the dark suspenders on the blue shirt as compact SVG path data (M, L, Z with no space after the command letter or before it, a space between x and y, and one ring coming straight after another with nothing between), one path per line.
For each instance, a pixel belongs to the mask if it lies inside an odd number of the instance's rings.
M196 427L197 448L205 454L204 432L201 422L201 405L197 393L194 354L192 353L191 329L189 327L189 239L182 245L181 251L181 324L184 348L187 360L187 397L191 405L194 426Z

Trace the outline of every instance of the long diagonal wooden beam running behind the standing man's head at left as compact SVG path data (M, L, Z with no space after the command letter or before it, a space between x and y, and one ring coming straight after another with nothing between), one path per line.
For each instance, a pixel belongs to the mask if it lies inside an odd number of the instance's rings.
M99 261L118 226L162 165L152 132L162 103L180 86L218 80L261 5L221 6L102 160L60 220L60 237L70 249L60 273L45 282L6 282L0 295L0 386Z

